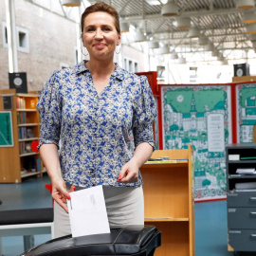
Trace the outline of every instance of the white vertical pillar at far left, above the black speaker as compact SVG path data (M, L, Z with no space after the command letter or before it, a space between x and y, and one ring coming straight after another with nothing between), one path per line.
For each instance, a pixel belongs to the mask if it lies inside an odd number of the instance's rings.
M14 0L6 0L6 19L9 45L9 73L18 72L17 33Z

